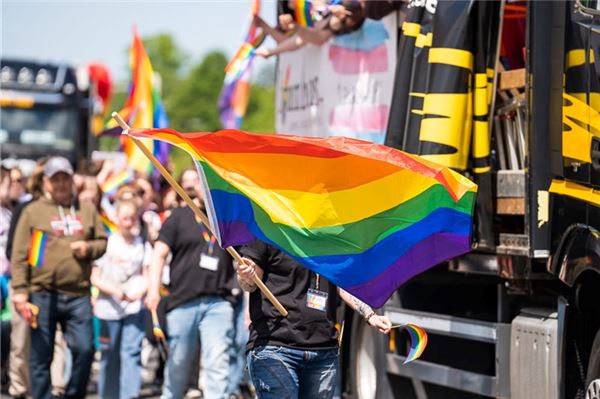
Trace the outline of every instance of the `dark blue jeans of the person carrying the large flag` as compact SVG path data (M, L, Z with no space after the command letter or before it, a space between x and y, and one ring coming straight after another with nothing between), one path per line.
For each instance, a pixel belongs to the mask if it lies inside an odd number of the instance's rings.
M338 381L338 349L261 346L248 353L259 399L331 399Z

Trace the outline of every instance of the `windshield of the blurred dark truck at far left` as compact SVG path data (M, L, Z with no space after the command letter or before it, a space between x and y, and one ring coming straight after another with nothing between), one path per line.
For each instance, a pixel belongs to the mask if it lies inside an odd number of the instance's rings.
M76 109L3 107L0 111L0 146L22 146L48 152L72 151L78 126Z

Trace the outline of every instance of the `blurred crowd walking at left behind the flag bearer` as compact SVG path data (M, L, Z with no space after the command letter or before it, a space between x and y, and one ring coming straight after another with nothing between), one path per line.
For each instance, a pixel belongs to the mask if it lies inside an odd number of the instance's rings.
M61 157L39 160L30 176L2 168L8 393L84 397L92 389L103 398L138 397L142 348L157 344L151 310L168 336L168 356L151 378L160 388L164 376L163 397L200 388L205 397L241 397L249 392L247 322L231 258L164 184L137 177L103 193L113 169L106 161L74 173ZM202 206L197 172L184 171L180 182Z

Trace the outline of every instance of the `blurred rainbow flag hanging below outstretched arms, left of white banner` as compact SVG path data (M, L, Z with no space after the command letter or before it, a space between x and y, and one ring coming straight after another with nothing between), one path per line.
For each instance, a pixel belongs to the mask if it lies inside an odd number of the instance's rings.
M254 0L252 15L260 12L260 1ZM219 96L219 114L225 128L239 128L246 115L250 98L250 73L254 52L265 40L264 33L258 35L256 26L250 25L246 39L225 67L225 79Z

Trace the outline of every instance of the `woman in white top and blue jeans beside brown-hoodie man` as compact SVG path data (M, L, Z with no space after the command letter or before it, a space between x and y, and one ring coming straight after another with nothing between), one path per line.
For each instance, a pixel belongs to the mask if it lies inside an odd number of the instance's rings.
M95 262L91 277L100 291L94 306L102 334L98 394L128 399L137 398L141 387L142 297L152 248L134 232L137 206L123 201L116 208L118 231L108 238L106 253Z

